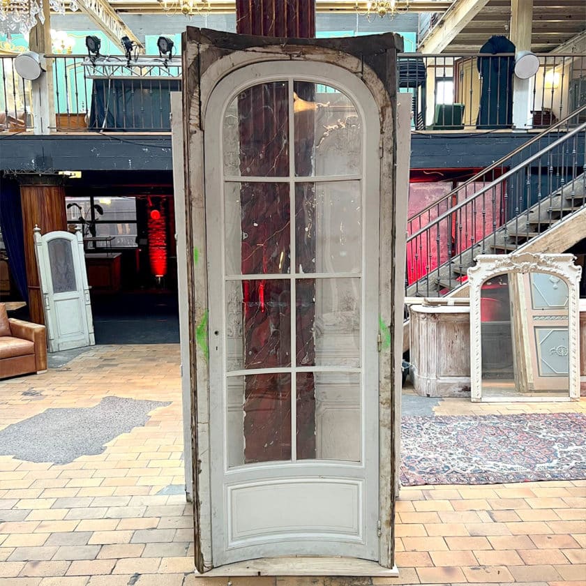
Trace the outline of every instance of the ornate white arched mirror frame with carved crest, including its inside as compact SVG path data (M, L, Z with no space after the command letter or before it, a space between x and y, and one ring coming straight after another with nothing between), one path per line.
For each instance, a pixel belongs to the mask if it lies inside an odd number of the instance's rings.
M473 401L580 397L571 254L479 255L468 269Z

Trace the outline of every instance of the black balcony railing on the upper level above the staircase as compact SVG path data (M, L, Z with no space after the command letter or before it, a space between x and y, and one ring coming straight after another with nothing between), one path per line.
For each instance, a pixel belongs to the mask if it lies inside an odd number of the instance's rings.
M586 54L538 54L529 126L547 128L586 103ZM414 130L498 130L513 125L514 54L416 54L398 60L412 94ZM525 98L526 99L526 98Z

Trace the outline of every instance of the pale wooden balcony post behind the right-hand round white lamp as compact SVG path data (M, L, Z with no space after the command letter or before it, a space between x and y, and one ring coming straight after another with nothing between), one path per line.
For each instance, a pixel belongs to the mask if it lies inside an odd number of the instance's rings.
M511 42L516 55L531 50L533 28L533 0L511 0ZM520 80L513 77L513 128L532 128L532 96L534 78Z

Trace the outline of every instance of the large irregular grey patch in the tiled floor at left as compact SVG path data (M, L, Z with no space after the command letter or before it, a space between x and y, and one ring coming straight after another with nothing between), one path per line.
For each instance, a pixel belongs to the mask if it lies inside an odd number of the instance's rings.
M95 456L107 442L149 421L149 413L170 403L105 397L94 407L47 409L0 430L0 455L27 462L69 464Z

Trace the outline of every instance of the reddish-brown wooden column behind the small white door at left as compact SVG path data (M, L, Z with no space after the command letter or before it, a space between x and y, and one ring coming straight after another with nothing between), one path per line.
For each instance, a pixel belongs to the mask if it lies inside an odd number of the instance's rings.
M20 200L24 232L24 258L27 263L29 314L36 324L45 323L43 297L40 293L38 268L35 256L33 229L40 227L43 234L54 230L67 230L65 189L59 175L21 175Z

